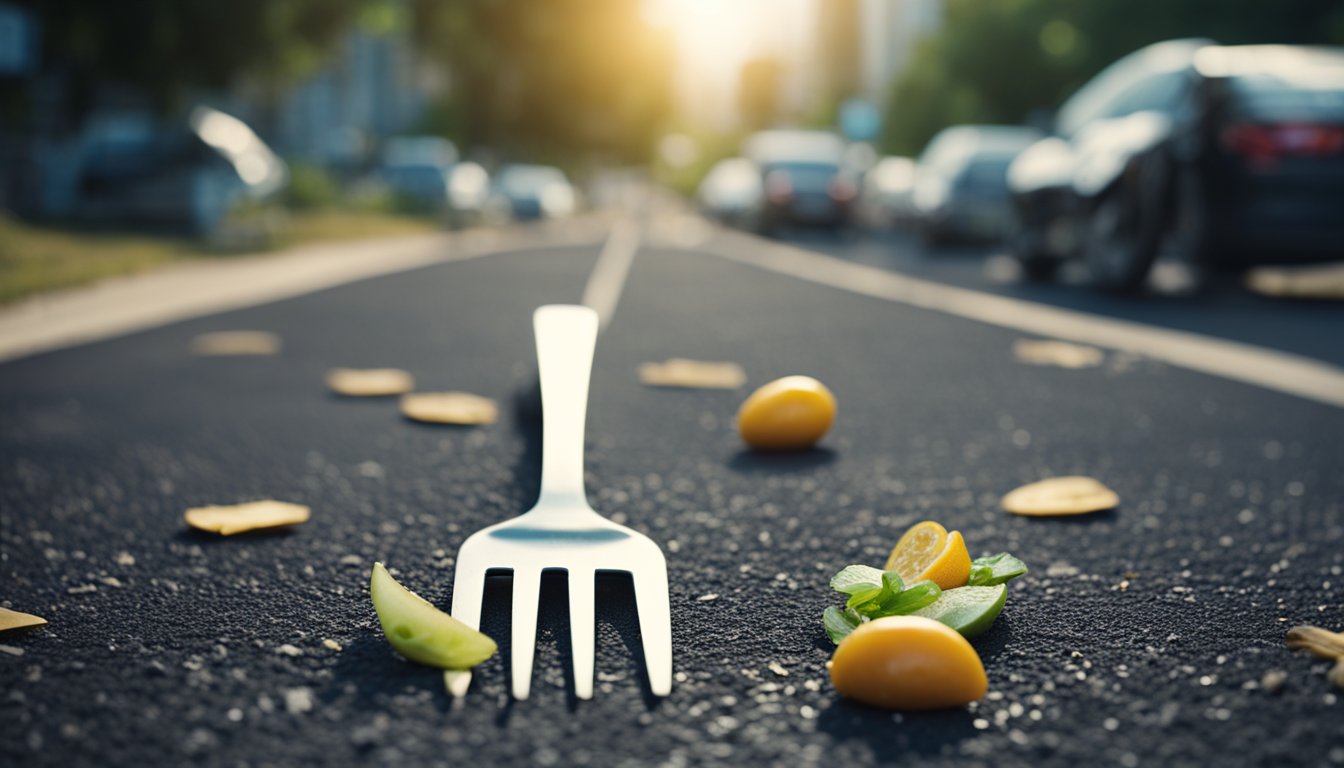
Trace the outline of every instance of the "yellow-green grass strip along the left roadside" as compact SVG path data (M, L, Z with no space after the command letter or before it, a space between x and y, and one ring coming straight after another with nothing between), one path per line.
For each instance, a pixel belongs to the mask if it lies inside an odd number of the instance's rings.
M382 211L317 208L288 213L259 250L321 241L367 239L434 231L431 218ZM249 249L255 253L258 249ZM230 258L241 250L200 239L87 231L30 225L0 211L0 304L108 277L145 272L171 261Z

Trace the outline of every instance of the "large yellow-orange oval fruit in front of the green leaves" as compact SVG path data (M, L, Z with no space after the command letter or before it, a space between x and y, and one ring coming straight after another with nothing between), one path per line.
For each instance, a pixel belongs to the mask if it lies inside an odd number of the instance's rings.
M922 616L887 616L840 642L831 658L840 695L883 709L943 709L985 695L980 655L946 624Z

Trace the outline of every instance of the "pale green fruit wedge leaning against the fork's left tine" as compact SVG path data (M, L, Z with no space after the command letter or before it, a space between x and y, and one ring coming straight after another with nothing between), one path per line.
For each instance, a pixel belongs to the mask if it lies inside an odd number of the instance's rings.
M495 640L434 608L406 589L383 564L374 564L368 584L374 611L387 642L413 662L445 670L468 670L495 655Z

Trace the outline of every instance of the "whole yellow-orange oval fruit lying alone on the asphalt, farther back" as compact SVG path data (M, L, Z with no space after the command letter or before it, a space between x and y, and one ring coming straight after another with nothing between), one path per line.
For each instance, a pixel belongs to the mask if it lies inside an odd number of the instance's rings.
M784 377L751 393L738 409L738 432L761 451L810 448L831 429L836 398L812 377Z

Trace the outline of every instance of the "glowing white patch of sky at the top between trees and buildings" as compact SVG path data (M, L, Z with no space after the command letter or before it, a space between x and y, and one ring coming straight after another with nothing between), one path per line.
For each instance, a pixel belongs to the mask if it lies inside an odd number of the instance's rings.
M814 0L646 0L655 24L672 30L677 91L692 116L732 110L747 61L774 54L785 70L812 54Z

